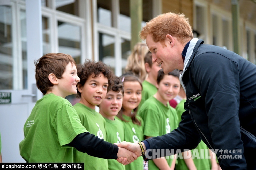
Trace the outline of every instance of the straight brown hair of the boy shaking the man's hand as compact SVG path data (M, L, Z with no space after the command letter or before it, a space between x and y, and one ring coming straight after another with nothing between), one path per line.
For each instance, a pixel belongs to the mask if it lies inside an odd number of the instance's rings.
M61 79L67 64L72 63L76 66L73 57L63 53L46 54L34 63L36 86L44 95L53 86L48 78L49 74L53 73L58 79Z

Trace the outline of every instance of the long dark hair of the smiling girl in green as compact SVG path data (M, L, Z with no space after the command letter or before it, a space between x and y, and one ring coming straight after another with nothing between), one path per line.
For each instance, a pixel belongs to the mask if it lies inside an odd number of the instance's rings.
M134 75L131 74L131 73L125 73L125 74L123 74L123 75L120 77L120 79L122 80L123 84L124 84L125 82L136 82L136 81L137 81L137 82L140 83L141 89L142 89L142 83L141 83L140 79L139 79L137 76L134 76ZM133 114L132 114L131 118L132 118L132 122L133 122L134 124L137 124L137 125L141 126L141 122L136 118L137 110L138 110L138 107L136 107L136 108L133 110ZM122 121L124 121L124 122L127 122L127 121L123 118L123 113L124 113L124 108L123 108L123 106L122 106L121 110L120 110L119 113L117 114L117 117L118 117L120 120L122 120Z

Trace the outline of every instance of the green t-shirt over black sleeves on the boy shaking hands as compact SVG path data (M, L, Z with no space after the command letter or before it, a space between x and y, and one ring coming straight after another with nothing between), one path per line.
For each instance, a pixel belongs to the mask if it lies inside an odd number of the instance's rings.
M68 144L84 132L88 131L68 100L44 95L24 125L20 155L27 162L73 162L73 147Z

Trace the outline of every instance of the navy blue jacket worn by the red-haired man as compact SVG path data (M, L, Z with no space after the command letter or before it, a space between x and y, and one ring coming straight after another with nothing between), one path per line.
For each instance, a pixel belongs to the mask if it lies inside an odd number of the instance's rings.
M176 151L194 149L202 139L218 149L222 169L256 169L256 66L202 43L197 41L182 77L187 101L179 127L146 141L150 149Z

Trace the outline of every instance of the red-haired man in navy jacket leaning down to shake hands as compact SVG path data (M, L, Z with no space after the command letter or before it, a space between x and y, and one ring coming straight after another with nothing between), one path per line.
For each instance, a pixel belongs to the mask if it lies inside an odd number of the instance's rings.
M194 149L202 139L215 150L221 168L256 169L256 66L232 51L193 38L184 14L155 17L142 29L141 38L152 52L152 62L165 73L183 70L180 83L187 95L179 127L146 139L146 148ZM138 144L121 145L139 150Z

